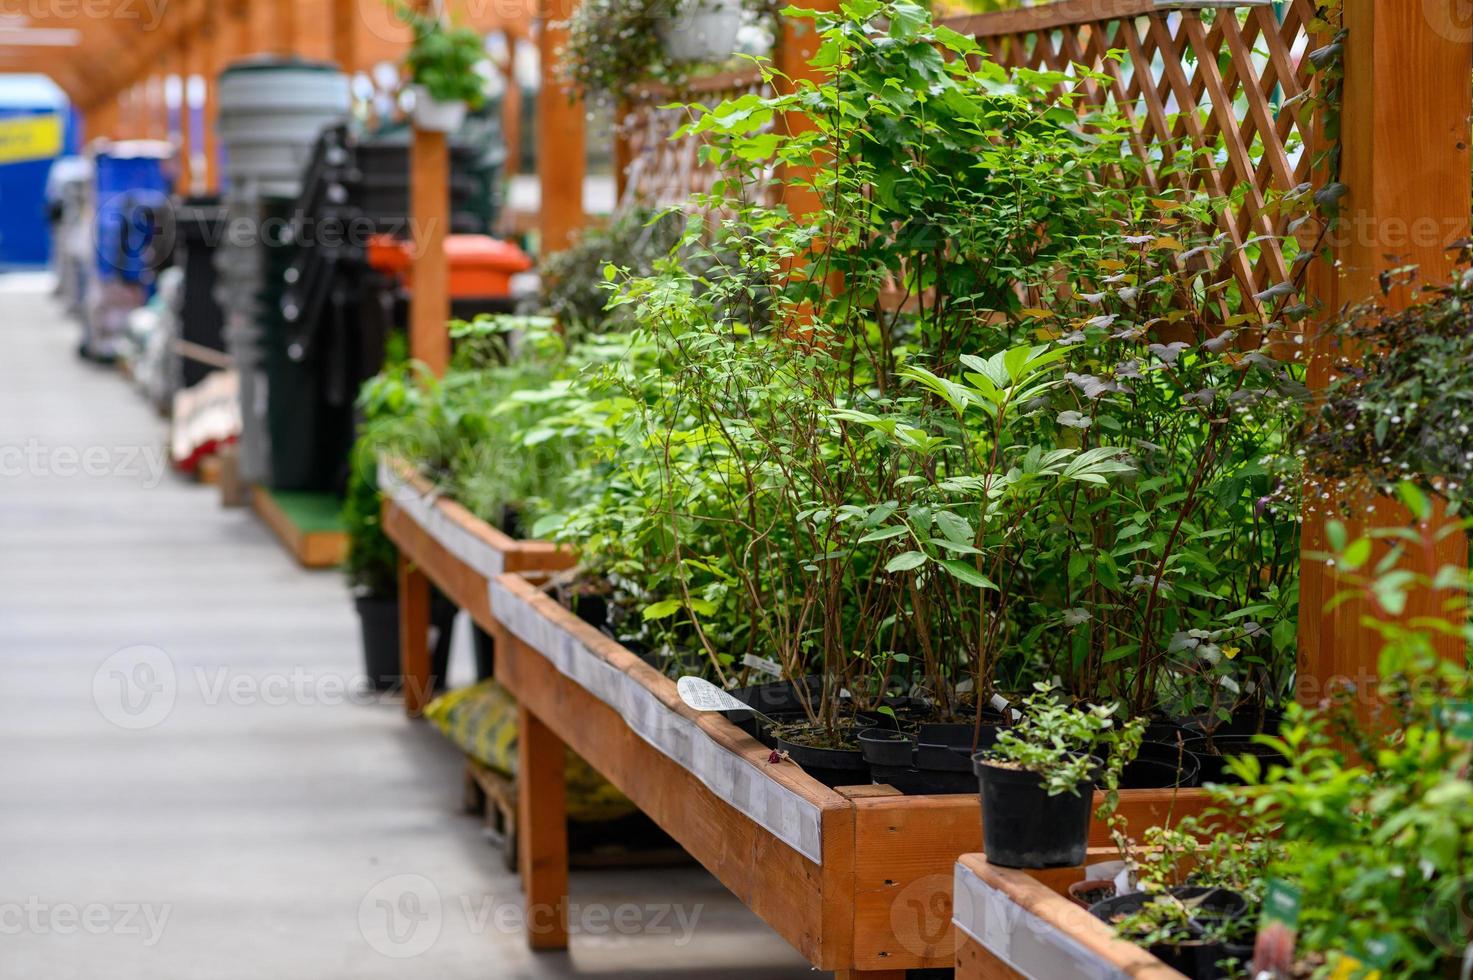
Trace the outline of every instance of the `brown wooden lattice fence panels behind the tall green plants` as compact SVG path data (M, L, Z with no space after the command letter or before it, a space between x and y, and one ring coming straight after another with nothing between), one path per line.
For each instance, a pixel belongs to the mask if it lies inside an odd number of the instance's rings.
M1061 0L947 27L977 38L999 65L1069 74L1081 115L1105 108L1127 119L1147 186L1220 202L1221 279L1239 284L1231 305L1252 309L1256 293L1296 273L1284 236L1308 206L1304 93L1314 13L1312 0ZM686 97L716 105L760 87L756 71L729 74L695 83ZM698 139L669 139L689 118L658 108L672 99L648 88L626 103L622 208L679 205L716 178L698 159ZM1309 223L1301 237L1315 230Z

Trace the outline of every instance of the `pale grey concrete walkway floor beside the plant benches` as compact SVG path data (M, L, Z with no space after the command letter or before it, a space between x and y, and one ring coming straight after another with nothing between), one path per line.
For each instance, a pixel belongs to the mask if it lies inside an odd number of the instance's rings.
M0 977L818 976L694 867L574 874L572 952L527 952L458 753L343 694L340 576L152 469L77 337L0 279Z

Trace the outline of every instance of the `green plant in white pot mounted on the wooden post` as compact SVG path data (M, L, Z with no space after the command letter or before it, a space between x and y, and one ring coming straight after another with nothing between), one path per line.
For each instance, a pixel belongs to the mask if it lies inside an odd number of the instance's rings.
M485 38L435 13L401 6L399 18L414 32L405 56L414 125L429 133L454 133L468 111L486 103L485 80L477 71L486 62Z

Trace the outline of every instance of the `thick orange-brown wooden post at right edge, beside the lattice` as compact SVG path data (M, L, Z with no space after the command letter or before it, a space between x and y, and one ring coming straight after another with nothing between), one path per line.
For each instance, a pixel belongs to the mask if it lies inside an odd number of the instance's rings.
M1340 118L1342 172L1349 189L1335 234L1336 268L1311 280L1327 312L1380 295L1379 276L1417 265L1423 281L1445 281L1452 268L1448 246L1469 236L1470 115L1473 38L1455 13L1457 0L1426 3L1346 3L1345 90ZM1404 307L1414 296L1398 289L1389 298ZM1320 351L1323 354L1323 349ZM1311 363L1311 385L1326 382L1324 358ZM1311 475L1312 479L1312 475ZM1365 501L1355 510L1370 519L1351 525L1352 535L1371 528L1402 526L1408 514L1392 501ZM1301 701L1312 704L1329 688L1349 681L1370 710L1377 681L1380 638L1361 625L1371 613L1349 601L1333 613L1324 604L1337 591L1333 576L1309 553L1326 548L1324 514L1307 514L1299 615ZM1467 560L1466 541L1454 535L1421 570ZM1413 597L1407 616L1435 615L1436 597Z

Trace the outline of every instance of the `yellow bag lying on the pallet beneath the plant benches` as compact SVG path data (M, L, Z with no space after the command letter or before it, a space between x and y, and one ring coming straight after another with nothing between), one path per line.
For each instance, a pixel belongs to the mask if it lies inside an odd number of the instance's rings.
M467 756L514 780L517 777L517 701L495 681L440 694L424 716ZM635 812L635 805L608 780L567 753L567 815L579 822L602 822Z

